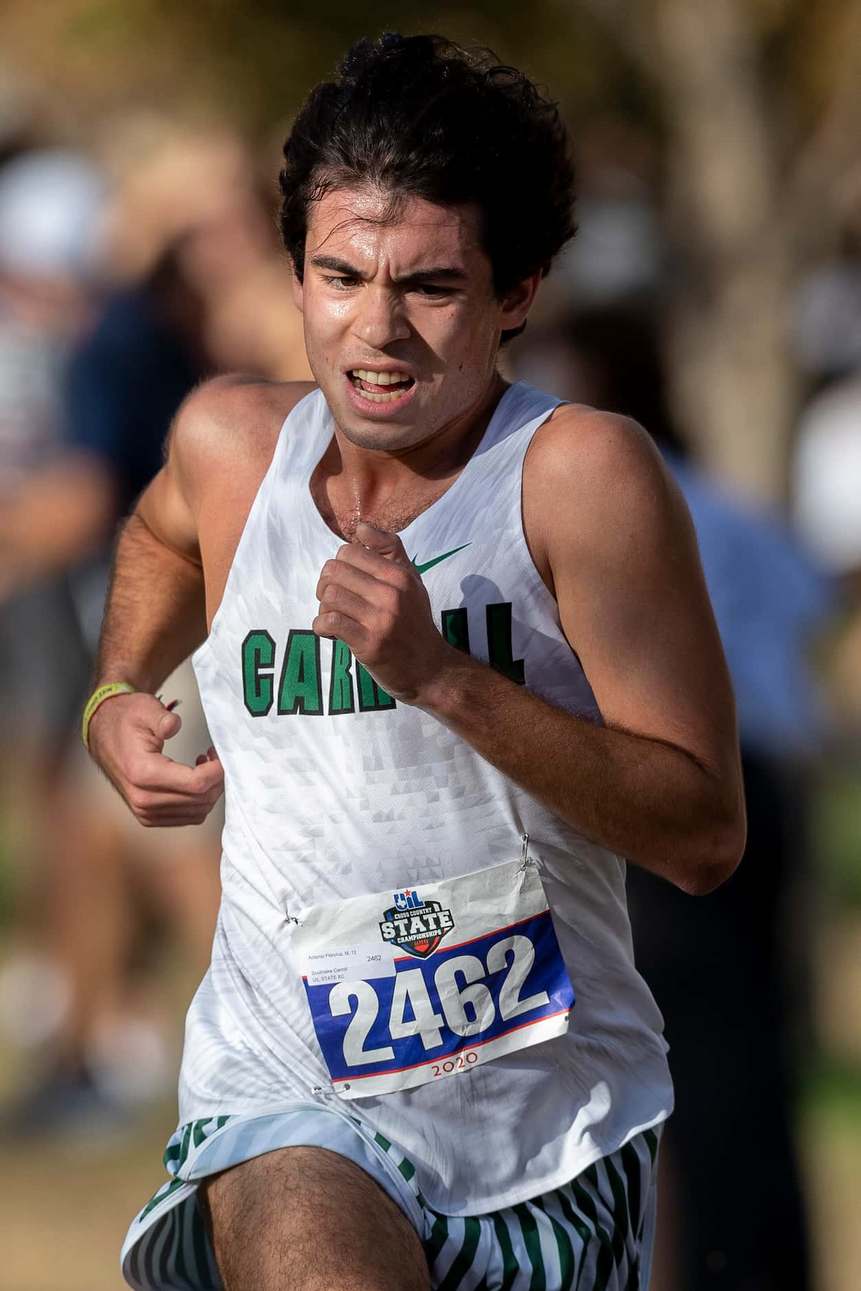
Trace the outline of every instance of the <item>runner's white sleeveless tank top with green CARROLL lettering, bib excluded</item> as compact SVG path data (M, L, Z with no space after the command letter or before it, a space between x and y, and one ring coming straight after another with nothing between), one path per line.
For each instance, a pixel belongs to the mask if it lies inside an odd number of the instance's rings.
M599 722L523 534L523 460L558 403L511 386L461 475L400 537L453 643ZM320 391L284 422L194 660L225 767L226 824L181 1119L323 1103L395 1143L436 1210L480 1214L567 1183L669 1115L662 1021L634 967L625 862L311 633L320 569L342 542L309 488L332 434ZM510 861L524 833L577 995L568 1033L465 1075L342 1104L287 953L288 913Z

